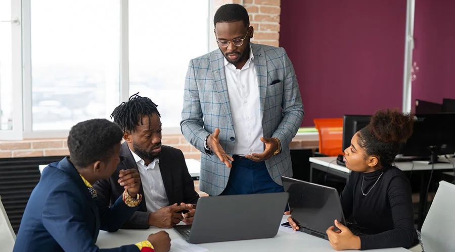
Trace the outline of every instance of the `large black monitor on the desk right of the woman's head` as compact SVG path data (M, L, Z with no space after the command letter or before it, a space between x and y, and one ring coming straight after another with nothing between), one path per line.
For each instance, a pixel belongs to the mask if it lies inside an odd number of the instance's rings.
M455 153L455 113L416 114L413 135L400 150L403 156L430 157Z

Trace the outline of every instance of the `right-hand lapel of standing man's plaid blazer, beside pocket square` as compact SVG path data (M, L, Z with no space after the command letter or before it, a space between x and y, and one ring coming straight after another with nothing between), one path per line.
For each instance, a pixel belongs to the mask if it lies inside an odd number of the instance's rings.
M259 101L261 109L261 120L264 116L265 96L267 95L267 60L264 49L260 45L251 43L254 55L254 66L256 68L257 83L259 88Z

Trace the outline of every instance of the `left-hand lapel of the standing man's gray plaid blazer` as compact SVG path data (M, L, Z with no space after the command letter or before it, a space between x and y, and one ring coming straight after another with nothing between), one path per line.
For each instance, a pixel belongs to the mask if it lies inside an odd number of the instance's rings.
M220 50L215 50L210 53L210 68L214 79L215 88L218 91L221 107L228 117L228 122L234 128L234 123L231 113L231 103L229 102L228 83L226 83L226 75L224 73L224 56Z

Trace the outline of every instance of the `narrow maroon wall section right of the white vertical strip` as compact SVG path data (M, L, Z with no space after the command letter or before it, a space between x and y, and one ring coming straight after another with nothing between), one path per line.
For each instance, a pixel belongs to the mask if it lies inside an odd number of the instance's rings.
M412 97L442 103L455 98L455 1L416 1ZM414 103L413 103L414 104Z

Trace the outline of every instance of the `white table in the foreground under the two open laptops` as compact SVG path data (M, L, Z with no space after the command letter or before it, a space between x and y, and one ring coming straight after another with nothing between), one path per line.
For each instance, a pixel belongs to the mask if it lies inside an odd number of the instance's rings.
M287 216L283 216L283 221L286 222ZM215 224L215 223L214 223ZM239 227L241 228L241 227ZM173 229L150 228L142 230L120 229L115 233L100 231L97 245L100 248L112 248L121 245L134 244L136 242L147 239L149 234L156 233L160 230L165 230L169 233L171 239L181 238ZM334 252L335 250L330 245L329 241L303 233L286 233L278 231L277 236L268 239L227 241L198 244L207 248L209 251L232 252L232 251L311 251L311 252ZM172 251L172 246L171 246ZM371 250L375 252L404 252L409 250L404 248L389 248Z

